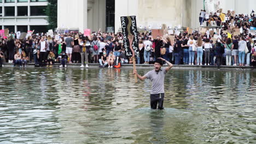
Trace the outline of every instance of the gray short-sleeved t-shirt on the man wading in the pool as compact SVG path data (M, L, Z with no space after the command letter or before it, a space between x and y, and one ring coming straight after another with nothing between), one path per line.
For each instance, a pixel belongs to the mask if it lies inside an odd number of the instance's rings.
M145 75L150 81L152 81L152 87L150 94L165 93L164 81L165 81L166 69L161 69L158 73L155 70L148 71Z

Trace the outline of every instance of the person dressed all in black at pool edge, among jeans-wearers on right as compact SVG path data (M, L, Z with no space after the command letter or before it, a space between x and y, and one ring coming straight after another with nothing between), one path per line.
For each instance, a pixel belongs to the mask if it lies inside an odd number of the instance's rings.
M224 53L224 46L222 44L222 41L218 38L217 43L215 44L215 55L216 55L216 59L217 59L218 69L220 68L220 65L222 64L223 53Z

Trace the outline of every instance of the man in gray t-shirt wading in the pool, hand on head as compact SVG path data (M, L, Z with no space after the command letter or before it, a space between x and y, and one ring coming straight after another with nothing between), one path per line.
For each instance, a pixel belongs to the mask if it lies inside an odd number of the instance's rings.
M162 63L166 62L168 64L167 68L162 67ZM144 80L149 79L152 81L152 88L150 92L150 106L151 109L156 109L158 104L158 109L164 109L164 97L165 97L165 88L164 88L164 81L165 81L165 74L172 68L172 64L166 61L163 58L157 58L154 63L154 70L149 71L146 75L141 76L137 73L137 70L133 71L133 74L136 74L138 79Z

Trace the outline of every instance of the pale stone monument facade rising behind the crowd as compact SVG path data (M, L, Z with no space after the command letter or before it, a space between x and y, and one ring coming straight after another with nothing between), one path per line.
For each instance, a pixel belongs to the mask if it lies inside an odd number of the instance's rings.
M58 1L58 28L106 31L109 21L108 6L110 0L68 0ZM219 1L219 8L226 13L235 10L237 14L250 14L256 6L255 0L211 0ZM203 9L203 0L113 0L115 32L120 28L120 16L137 17L137 26L158 28L162 23L169 27L199 27L199 13Z

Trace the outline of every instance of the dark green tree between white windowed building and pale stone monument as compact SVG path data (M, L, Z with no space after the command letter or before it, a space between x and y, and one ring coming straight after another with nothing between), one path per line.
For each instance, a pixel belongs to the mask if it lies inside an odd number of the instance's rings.
M48 28L53 30L57 28L57 0L48 0L45 14L48 16Z

